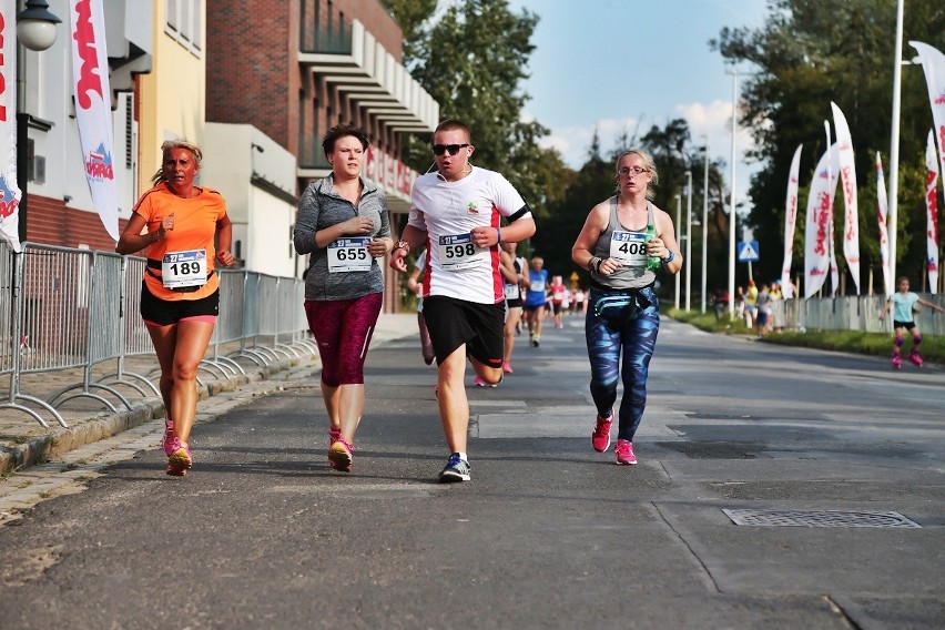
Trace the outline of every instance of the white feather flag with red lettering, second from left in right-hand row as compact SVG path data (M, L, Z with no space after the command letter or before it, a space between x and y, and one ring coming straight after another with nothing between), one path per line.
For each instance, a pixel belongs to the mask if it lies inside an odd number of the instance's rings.
M817 162L807 196L807 216L804 227L804 297L821 289L831 270L831 231L833 194L836 177L831 163L836 160L836 145L831 146Z

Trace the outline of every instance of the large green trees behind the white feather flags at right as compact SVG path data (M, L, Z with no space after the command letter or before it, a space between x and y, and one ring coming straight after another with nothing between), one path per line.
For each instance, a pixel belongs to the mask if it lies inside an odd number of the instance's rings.
M783 247L784 195L791 159L803 143L801 181L809 182L826 149L823 121L832 118L830 102L843 110L856 152L861 225L861 286L870 270L878 271L876 195L873 164L877 151L888 161L892 118L895 0L769 0L769 19L758 30L723 29L710 47L733 63L749 62L758 72L743 85L740 125L754 135L751 156L762 170L752 179L753 207L748 216L762 251L760 273L780 276ZM945 49L945 9L939 0L910 0L905 4L904 40L919 40ZM904 45L903 58L914 50ZM925 78L918 68L904 68L902 83L898 270L919 277L925 256L923 240L924 187L913 177L924 163L926 133L932 125ZM871 196L872 195L872 196ZM837 195L835 220L843 225L843 195ZM799 203L797 224L803 252L806 194ZM917 232L916 232L917 231ZM842 245L837 242L840 252ZM841 265L842 255L839 256ZM795 274L803 256L794 256ZM874 274L874 283L878 274ZM880 287L881 284L875 286Z

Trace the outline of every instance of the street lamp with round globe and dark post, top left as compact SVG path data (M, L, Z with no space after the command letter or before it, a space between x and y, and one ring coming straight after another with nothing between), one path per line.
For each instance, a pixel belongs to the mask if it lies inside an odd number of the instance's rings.
M55 24L62 22L49 11L45 0L27 0L22 11L17 13L17 39L22 48L17 51L17 187L20 189L19 236L27 240L27 192L29 173L27 165L27 145L29 144L30 114L27 113L27 69L22 49L43 51L55 43Z

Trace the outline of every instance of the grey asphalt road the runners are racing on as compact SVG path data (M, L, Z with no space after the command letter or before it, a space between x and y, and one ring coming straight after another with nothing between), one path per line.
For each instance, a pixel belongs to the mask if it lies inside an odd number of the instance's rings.
M159 423L129 431L84 490L0 527L0 626L945 626L941 368L667 322L627 467L590 448L581 322L519 339L515 374L470 386L467 484L436 482L416 335L372 349L349 475L316 374L205 414L183 479Z

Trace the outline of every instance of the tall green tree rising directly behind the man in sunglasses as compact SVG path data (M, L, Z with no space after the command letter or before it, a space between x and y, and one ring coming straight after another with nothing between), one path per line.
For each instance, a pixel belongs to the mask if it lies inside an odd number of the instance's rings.
M539 173L538 140L548 130L524 121L529 95L531 37L538 16L515 13L507 0L457 0L431 18L431 0L385 0L405 34L405 64L440 104L440 118L459 119L472 131L472 162L502 173L540 216L536 200L549 183ZM413 138L405 162L425 172L433 162L430 138ZM559 161L560 162L560 161ZM547 171L548 163L545 169Z

